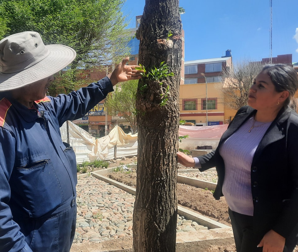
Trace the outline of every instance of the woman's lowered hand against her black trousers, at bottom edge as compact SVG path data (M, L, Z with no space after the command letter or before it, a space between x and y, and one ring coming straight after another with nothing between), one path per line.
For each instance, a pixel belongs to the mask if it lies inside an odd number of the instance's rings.
M263 247L263 252L282 252L285 243L286 239L271 229L264 235L257 247Z

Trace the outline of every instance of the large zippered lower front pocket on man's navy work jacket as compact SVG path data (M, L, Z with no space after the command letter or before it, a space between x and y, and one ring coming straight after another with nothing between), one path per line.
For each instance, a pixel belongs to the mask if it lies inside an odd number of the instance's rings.
M26 157L19 164L10 179L11 198L29 217L48 214L65 200L48 153Z

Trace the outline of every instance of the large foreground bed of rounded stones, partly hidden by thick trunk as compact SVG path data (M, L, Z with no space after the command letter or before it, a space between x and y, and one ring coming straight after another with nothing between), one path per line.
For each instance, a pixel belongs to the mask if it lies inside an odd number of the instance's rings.
M132 236L135 196L93 176L79 177L77 221L73 243L101 242ZM183 216L177 218L177 232L208 229Z

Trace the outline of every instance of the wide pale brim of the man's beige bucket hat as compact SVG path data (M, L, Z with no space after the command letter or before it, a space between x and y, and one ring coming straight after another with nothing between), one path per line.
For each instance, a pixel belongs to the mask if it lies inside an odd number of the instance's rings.
M28 69L17 73L0 72L0 92L24 87L47 78L69 65L76 56L74 49L64 45L46 45L50 54Z

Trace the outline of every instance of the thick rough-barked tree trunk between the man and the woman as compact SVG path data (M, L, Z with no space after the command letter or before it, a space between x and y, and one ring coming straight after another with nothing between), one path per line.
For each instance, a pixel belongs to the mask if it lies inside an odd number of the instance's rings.
M143 77L137 91L138 165L133 250L175 251L182 24L178 0L146 0L136 37L147 71L165 61L174 76ZM168 34L172 33L172 36ZM166 98L168 100L166 100ZM162 105L162 101L165 105Z

